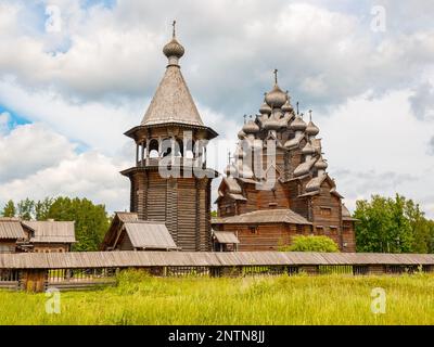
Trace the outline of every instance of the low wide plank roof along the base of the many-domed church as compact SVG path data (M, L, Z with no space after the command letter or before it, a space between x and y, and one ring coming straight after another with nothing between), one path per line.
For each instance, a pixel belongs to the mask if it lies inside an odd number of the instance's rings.
M289 208L260 209L253 213L213 218L213 224L250 224L250 223L290 223L311 224L306 218Z

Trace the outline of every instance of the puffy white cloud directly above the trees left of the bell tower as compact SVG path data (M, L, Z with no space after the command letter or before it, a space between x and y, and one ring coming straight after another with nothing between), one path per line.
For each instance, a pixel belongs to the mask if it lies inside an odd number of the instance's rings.
M40 124L0 134L0 206L7 201L46 196L88 197L108 210L128 208L129 183L122 157L95 151L77 154L76 144Z

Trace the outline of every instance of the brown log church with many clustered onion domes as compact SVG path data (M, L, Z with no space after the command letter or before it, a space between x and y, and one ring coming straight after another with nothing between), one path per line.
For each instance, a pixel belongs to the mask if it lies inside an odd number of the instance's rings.
M297 105L298 108L298 105ZM259 115L244 123L218 189L213 228L233 232L239 250L278 250L295 235L327 235L355 252L355 220L326 171L319 128L275 86Z

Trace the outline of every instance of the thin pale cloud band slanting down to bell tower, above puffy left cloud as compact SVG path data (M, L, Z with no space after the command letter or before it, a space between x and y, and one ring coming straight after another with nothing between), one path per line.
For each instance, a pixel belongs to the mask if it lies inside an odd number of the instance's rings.
M43 123L68 139L101 153L115 155L130 142L124 131L139 124L137 103L73 103L54 91L27 91L10 80L0 80L2 104L30 121Z

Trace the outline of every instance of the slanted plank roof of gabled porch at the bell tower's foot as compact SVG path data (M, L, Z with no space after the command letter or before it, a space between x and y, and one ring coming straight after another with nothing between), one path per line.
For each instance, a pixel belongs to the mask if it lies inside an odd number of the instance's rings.
M135 248L178 249L164 223L139 220L124 227Z

